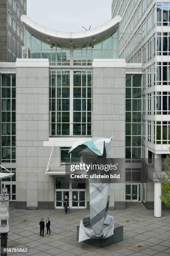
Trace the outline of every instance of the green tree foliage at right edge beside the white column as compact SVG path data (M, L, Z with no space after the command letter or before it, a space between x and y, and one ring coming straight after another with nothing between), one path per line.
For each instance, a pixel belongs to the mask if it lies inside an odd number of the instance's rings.
M160 199L166 206L170 207L170 153L166 156L164 164L165 174L160 176L157 175L157 178L162 185L162 195L160 196Z

